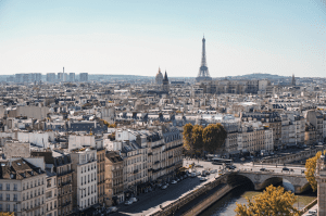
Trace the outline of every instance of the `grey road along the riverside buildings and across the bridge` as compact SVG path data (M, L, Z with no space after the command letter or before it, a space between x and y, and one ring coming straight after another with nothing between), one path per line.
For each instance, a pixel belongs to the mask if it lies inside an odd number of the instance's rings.
M189 164L195 163L196 165L201 165L203 167L197 167L196 169L198 171L202 171L203 169L222 169L222 165L213 165L211 162L204 162L204 161L189 161L189 160L184 160L184 166L189 166ZM281 167L276 167L274 166L266 166L266 165L261 165L261 164L255 164L254 166L252 163L235 163L234 164L237 169L247 169L247 170L253 170L253 171L260 171L262 167L268 169L268 170L274 170L277 173L281 173ZM287 166L290 169L293 169L294 171L289 173L291 175L304 175L301 174L302 167L296 167L296 166ZM236 169L236 170L237 170ZM215 174L211 174L208 176L208 181L214 180ZM156 189L152 192L149 193L143 193L140 194L139 201L137 203L134 203L129 206L125 206L123 203L120 204L118 207L118 213L110 214L110 215L149 215L151 213L156 212L160 209L160 205L166 206L170 203L178 200L180 196L184 196L188 192L201 187L202 185L206 183L208 181L200 181L199 177L196 178L190 178L188 177L187 179L184 179L179 181L176 185L170 185L167 189L162 190L162 189Z

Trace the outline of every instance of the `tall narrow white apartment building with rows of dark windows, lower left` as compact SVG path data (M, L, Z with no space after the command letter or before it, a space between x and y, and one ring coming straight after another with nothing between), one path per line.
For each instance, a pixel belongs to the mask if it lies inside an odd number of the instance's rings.
M73 206L83 212L98 203L97 150L91 147L71 151L73 173Z

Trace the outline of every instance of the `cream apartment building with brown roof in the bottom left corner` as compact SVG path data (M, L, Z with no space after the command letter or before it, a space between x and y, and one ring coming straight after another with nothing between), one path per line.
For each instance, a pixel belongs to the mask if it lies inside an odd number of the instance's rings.
M1 162L0 212L46 215L46 178L43 167L24 158Z

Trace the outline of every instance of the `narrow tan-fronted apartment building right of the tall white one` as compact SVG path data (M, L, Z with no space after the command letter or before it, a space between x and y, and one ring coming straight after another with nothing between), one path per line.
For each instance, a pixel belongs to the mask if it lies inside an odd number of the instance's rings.
M124 202L124 161L118 152L105 154L105 205Z

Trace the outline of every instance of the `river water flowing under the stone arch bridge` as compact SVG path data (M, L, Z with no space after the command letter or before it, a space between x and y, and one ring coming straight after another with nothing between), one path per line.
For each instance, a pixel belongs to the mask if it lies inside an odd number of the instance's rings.
M291 183L286 181L284 181L281 186L285 187L286 190L293 191L294 189ZM236 203L244 204L247 203L246 196L251 199L253 195L260 193L262 193L262 191L254 191L253 186L250 185L238 187L206 208L200 216L234 216L236 215ZM316 199L316 192L313 193L312 190L309 190L299 195L299 202L296 202L293 206L301 209Z

